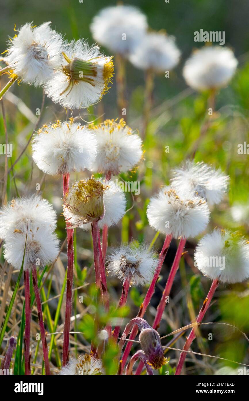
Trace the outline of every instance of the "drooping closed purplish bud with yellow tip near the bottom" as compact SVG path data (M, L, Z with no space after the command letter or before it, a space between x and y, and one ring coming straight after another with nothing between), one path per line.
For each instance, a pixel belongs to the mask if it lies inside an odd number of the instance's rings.
M160 369L167 363L159 334L153 328L143 328L139 335L141 348L154 369Z

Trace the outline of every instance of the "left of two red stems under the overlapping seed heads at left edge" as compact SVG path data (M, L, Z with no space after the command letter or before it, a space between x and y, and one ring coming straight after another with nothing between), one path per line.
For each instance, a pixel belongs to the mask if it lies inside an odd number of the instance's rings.
M24 336L24 361L25 375L30 375L30 276L29 271L24 271L24 292L25 292L25 336Z

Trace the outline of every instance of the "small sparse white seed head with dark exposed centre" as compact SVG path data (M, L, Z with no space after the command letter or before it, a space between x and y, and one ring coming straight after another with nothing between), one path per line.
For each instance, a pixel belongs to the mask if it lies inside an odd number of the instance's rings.
M108 273L120 280L129 280L134 286L151 282L157 257L145 244L138 247L122 246L107 256Z

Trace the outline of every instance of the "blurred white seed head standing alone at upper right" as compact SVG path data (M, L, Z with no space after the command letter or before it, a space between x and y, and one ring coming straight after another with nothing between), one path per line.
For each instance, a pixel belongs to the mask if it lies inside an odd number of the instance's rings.
M183 77L198 91L217 89L229 83L237 65L237 59L227 47L205 46L186 61Z

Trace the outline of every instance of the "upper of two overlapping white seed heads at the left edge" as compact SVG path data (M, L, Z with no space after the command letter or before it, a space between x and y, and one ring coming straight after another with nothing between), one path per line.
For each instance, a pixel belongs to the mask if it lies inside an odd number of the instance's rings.
M56 211L46 199L32 195L13 199L0 209L0 238L7 239L20 230L26 233L29 228L39 226L54 231L56 228Z

